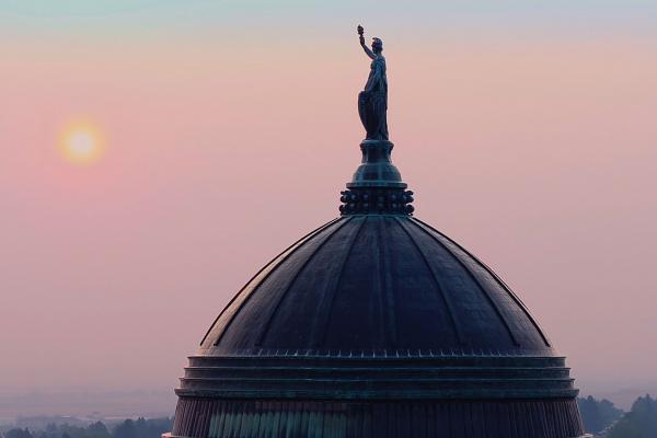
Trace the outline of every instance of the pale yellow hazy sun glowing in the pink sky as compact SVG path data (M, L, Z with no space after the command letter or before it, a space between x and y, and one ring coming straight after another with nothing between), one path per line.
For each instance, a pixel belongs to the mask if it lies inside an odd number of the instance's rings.
M90 123L71 123L62 130L59 149L68 161L77 164L90 164L97 161L103 154L103 136Z

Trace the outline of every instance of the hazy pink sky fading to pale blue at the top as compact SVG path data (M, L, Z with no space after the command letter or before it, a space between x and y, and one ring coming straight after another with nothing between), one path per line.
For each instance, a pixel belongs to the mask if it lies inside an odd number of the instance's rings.
M657 2L0 0L0 391L170 391L359 162L381 37L416 216L583 393L657 391ZM92 126L93 162L61 152ZM64 132L64 134L62 134ZM9 359L8 359L9 358Z

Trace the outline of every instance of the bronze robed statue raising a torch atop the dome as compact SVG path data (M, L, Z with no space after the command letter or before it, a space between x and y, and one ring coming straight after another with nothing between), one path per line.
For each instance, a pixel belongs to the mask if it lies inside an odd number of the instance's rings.
M367 78L365 90L358 94L358 114L360 122L365 126L368 140L388 140L388 122L385 113L388 112L388 79L385 78L385 58L383 51L383 42L379 38L372 38L372 48L365 45L364 28L358 26L360 36L360 46L370 57L370 74Z

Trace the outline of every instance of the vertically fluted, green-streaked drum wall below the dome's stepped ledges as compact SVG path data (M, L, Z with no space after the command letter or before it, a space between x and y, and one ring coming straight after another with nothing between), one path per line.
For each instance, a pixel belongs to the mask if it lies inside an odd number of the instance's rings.
M182 397L166 438L587 437L575 399L266 401Z

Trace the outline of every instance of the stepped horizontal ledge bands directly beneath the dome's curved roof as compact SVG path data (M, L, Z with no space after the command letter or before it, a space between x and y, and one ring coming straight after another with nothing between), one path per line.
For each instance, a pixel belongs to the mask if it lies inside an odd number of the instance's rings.
M176 389L210 400L574 399L563 357L192 356Z

